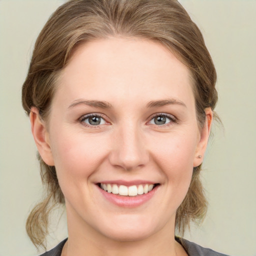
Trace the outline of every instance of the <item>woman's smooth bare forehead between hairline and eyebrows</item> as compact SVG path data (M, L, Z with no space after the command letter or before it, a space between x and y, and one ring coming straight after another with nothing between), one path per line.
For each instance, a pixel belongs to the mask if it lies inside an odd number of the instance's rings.
M58 93L72 99L190 98L188 68L158 42L138 38L97 39L79 45L62 70ZM192 96L193 97L193 96Z

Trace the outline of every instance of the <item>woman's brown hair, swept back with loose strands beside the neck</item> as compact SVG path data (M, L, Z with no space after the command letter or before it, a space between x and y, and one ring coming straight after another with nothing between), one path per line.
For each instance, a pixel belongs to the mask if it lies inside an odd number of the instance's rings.
M199 127L206 107L217 101L216 72L201 32L176 0L70 0L48 19L34 46L27 77L22 87L22 105L29 114L32 106L46 120L60 71L78 44L108 36L142 37L158 41L172 51L190 70L193 79ZM30 212L27 233L35 245L47 235L48 214L64 203L54 166L40 155L40 173L46 197ZM175 226L182 235L190 220L201 219L207 208L199 179L201 166L193 170L188 192L176 212Z

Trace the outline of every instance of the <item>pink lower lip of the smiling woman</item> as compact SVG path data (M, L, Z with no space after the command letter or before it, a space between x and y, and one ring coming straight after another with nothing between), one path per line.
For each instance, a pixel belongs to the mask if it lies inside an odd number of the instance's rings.
M122 195L117 195L117 194L113 194L113 193L108 193L107 191L101 189L98 185L96 185L97 188L99 189L99 191L101 192L101 194L111 203L114 203L118 206L121 207L137 207L139 205L142 205L143 203L145 203L146 201L148 201L150 198L152 198L152 196L154 195L154 193L156 192L156 190L158 189L159 185L155 186L150 192L146 193L146 194L139 194L136 196L122 196Z

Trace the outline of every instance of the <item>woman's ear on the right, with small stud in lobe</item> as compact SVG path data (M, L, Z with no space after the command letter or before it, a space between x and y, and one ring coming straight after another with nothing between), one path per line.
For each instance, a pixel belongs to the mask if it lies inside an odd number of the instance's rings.
M210 134L210 127L212 123L212 110L210 107L207 107L205 110L205 121L204 125L200 131L200 139L197 143L193 166L196 167L202 163L203 156L207 147L208 138Z

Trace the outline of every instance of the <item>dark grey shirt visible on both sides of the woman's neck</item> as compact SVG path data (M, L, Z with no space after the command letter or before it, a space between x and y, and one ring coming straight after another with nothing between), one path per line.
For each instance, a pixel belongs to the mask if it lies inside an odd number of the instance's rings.
M40 256L60 256L66 240L67 238L61 241L56 247L54 247L49 251L44 252ZM179 238L176 238L176 240L180 243ZM185 239L182 239L182 242L183 242L182 246L184 247L184 249L186 250L189 256L227 256L226 254L216 252L212 249L203 248L202 246Z

